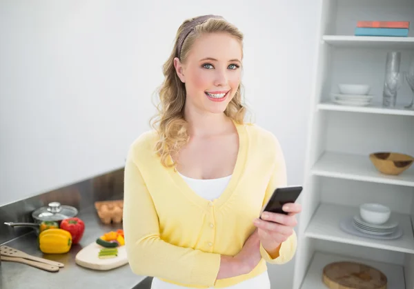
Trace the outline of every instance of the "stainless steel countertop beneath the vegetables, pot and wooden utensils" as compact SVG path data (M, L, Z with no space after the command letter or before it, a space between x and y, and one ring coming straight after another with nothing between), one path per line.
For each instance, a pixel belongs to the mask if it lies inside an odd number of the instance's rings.
M21 250L30 255L59 261L65 264L59 272L48 272L22 263L2 261L0 266L0 289L73 289L73 288L111 288L131 289L146 276L132 273L128 264L108 271L90 270L75 263L77 252L95 241L97 237L110 230L122 228L119 225L101 223L95 208L81 210L77 216L85 222L85 232L81 242L73 245L66 254L43 254L37 248L37 235L32 232L3 245Z

